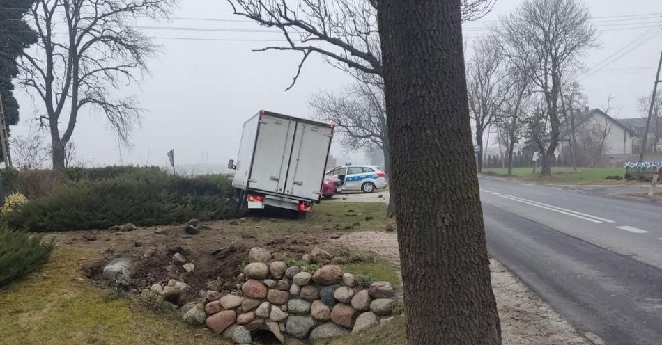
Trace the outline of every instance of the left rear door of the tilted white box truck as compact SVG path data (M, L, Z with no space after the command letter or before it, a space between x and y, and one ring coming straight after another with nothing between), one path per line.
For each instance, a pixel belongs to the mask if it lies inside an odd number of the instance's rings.
M284 193L295 127L293 120L261 116L249 188Z

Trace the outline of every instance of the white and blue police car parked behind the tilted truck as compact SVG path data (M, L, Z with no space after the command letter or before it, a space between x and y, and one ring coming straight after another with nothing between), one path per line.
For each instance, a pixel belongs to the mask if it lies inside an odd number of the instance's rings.
M343 191L372 193L387 185L386 173L378 166L339 166L326 175L337 177Z

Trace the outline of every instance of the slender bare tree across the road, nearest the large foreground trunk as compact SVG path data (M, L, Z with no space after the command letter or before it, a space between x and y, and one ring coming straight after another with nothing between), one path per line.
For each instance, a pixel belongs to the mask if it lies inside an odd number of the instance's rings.
M475 125L475 139L479 147L478 171L483 168L483 135L493 123L500 106L505 102L507 74L500 47L491 37L474 44L474 56L467 64L469 111ZM489 145L489 143L488 143Z

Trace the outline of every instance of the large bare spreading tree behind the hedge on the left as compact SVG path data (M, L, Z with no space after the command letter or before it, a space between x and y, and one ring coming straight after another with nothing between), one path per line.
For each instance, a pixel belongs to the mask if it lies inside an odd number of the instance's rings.
M40 124L50 131L54 168L65 166L66 145L83 109L99 111L128 143L141 109L134 97L111 90L137 83L155 45L130 22L167 15L176 0L37 0L29 13L36 48L22 55L20 83L43 103ZM63 124L63 128L60 128Z

